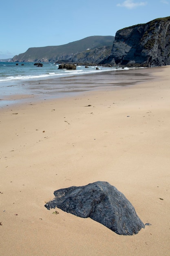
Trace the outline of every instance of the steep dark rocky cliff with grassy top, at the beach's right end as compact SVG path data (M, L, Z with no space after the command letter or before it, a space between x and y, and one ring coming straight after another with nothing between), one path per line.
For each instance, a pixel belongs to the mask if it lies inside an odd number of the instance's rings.
M117 31L110 56L99 64L170 65L170 17Z

